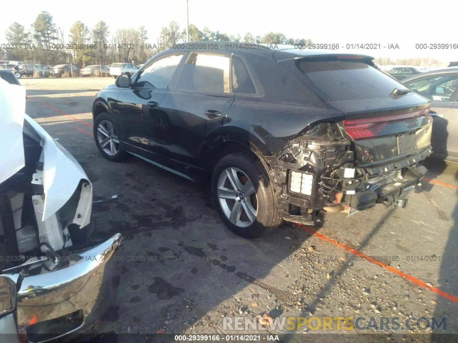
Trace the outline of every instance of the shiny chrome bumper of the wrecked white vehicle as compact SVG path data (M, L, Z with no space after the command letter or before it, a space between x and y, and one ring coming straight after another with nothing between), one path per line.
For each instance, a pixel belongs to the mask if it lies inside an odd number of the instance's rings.
M37 331L33 327L40 322L80 311L83 317L78 327L58 336L61 337L99 319L116 301L120 268L113 257L122 243L122 236L115 234L95 247L65 257L61 262L64 265L57 270L50 265L50 272L42 268L40 274L24 277L17 297L19 331L28 336L30 329Z

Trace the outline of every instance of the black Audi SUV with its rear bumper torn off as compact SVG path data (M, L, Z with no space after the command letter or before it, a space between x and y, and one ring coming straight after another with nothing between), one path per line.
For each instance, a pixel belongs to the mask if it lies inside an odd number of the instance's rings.
M212 44L165 50L98 92L93 135L107 160L210 181L245 238L282 220L318 224L323 211L406 205L431 154L428 100L370 56Z

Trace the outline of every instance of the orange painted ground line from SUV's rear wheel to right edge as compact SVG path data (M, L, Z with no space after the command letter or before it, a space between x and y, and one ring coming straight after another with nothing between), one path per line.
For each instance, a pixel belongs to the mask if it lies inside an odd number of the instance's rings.
M334 245L337 245L339 248L342 248L342 249L344 249L344 250L346 250L348 252L351 252L354 255L363 257L366 260L368 260L369 262L376 264L377 266L380 266L382 268L385 268L385 269L389 270L392 273L395 273L395 274L397 274L399 276L402 276L403 278L408 279L409 281L413 282L414 284L419 285L420 287L429 288L434 293L436 293L438 295L442 295L444 298L447 298L448 300L452 300L452 301L458 303L458 297L456 297L454 295L451 295L451 294L448 294L448 293L446 293L446 292L444 292L444 291L442 291L442 290L440 290L440 289L438 289L436 287L428 286L424 281L421 281L420 279L417 279L417 278L413 277L412 275L404 273L404 272L402 272L402 271L400 271L400 270L398 270L396 268L393 268L391 266L388 266L387 264L382 263L380 261L376 261L373 258L363 254L362 252L359 252L358 250L355 250L353 248L347 247L346 245L344 245L342 243L339 243L338 241L334 241L332 238L323 236L321 233L318 233L315 230L312 230L312 229L308 228L307 226L304 226L304 225L301 225L301 224L296 224L296 226L301 227L305 231L308 231L308 232L312 233L313 235L315 235L318 238L321 238L324 241L333 243Z

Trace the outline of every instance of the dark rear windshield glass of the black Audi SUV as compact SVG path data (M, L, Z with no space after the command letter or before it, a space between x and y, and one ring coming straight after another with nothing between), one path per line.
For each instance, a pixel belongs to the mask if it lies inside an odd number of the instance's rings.
M350 61L301 61L299 69L328 101L383 98L406 87L368 64Z

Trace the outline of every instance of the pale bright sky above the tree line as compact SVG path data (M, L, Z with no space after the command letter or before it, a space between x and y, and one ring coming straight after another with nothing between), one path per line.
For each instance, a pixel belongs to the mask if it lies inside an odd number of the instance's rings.
M15 21L29 28L40 11L48 11L65 36L74 21L93 27L104 20L113 34L120 28L147 29L156 42L161 28L176 21L186 27L186 0L103 1L78 6L57 0L24 0L27 11L8 11L0 21L0 44L7 43L5 31ZM374 57L430 57L449 62L458 60L457 0L188 0L189 23L200 30L208 27L228 35L246 32L253 36L281 32L288 38L310 38L314 43L338 43L341 52ZM128 43L128 42L126 42ZM349 50L347 44L380 44L377 50ZM449 44L448 49L419 49L416 44ZM388 49L398 44L398 49ZM455 49L452 48L455 44ZM384 48L386 47L386 48Z

